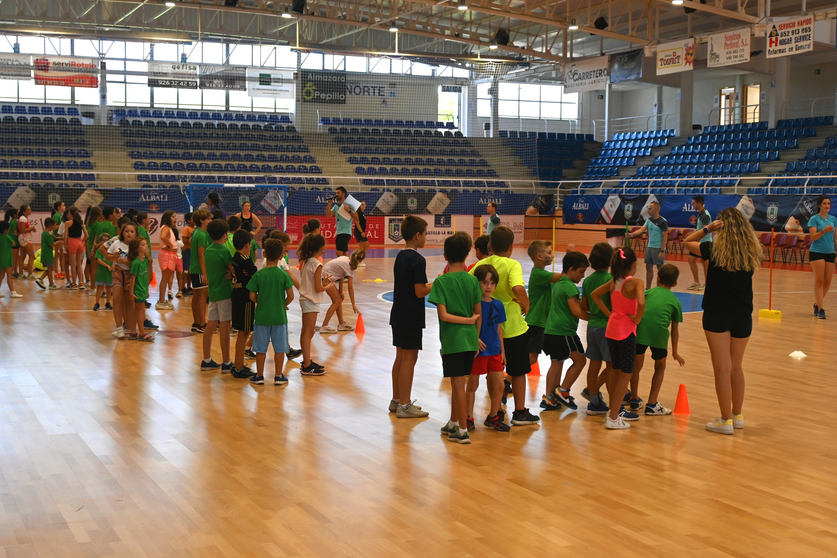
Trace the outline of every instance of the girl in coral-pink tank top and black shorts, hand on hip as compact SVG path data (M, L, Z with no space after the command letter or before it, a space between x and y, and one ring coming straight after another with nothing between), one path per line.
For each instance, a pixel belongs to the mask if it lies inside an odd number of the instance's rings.
M610 260L613 279L596 289L590 298L608 317L605 338L613 361L615 389L610 394L610 414L605 421L608 430L623 430L631 425L626 420L637 420L639 415L622 407L628 382L634 371L636 356L636 326L645 311L645 284L635 278L636 253L628 247L618 248ZM602 297L610 293L613 311L608 310ZM618 371L621 371L619 373Z

